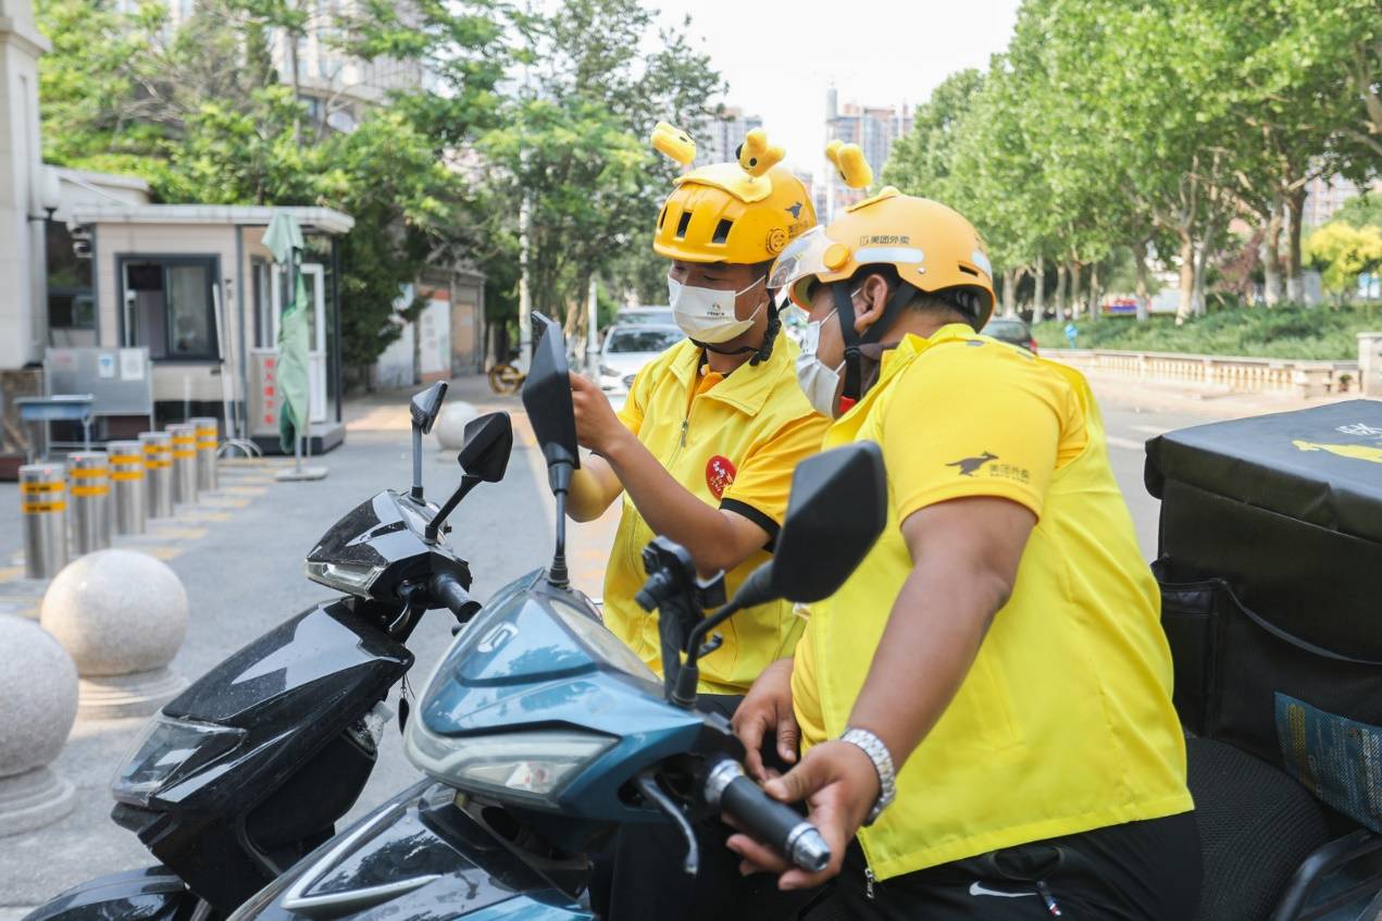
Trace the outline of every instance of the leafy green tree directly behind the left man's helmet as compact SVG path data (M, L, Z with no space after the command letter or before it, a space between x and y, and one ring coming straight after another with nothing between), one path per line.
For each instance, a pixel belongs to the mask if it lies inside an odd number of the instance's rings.
M680 29L658 29L636 0L572 0L518 19L524 86L478 151L489 165L495 234L515 235L527 209L532 303L585 328L591 275L665 288L651 249L676 167L648 144L659 120L695 129L716 115L723 83ZM630 48L656 48L648 54Z

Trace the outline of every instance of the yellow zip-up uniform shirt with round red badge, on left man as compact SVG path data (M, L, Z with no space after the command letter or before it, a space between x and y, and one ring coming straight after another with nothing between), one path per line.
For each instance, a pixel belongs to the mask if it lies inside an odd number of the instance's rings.
M732 596L760 563L786 512L792 470L821 449L829 420L796 383L796 346L778 335L773 355L728 376L702 362L701 348L677 343L638 372L619 418L663 467L702 502L757 523L768 543L726 574ZM605 625L662 673L656 613L634 593L647 579L643 548L656 537L625 494L623 516L605 570ZM791 655L803 621L786 603L735 614L717 632L724 644L701 660L701 691L744 694L770 662Z

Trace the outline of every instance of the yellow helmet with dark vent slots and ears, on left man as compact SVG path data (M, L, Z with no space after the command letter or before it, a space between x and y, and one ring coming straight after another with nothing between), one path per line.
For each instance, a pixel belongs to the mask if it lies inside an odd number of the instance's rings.
M666 131L662 133L663 136ZM658 149L668 147L654 136ZM782 148L750 131L737 163L714 163L676 180L658 213L652 249L688 263L752 266L775 259L815 225L802 180L778 166Z

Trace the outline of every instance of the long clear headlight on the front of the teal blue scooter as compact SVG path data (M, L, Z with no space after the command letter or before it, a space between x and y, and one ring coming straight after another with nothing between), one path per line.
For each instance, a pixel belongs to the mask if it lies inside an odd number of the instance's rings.
M615 738L560 729L492 736L438 736L423 719L409 722L409 761L449 787L546 801Z

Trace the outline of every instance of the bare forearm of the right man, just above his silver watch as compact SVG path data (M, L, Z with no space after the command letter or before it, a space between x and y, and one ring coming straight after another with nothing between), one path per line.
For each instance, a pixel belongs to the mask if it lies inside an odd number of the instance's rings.
M850 714L898 769L949 707L1006 597L995 581L956 578L944 566L923 563L902 584Z

